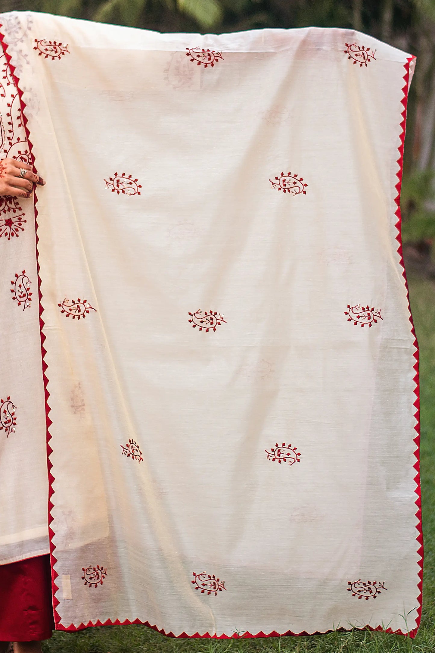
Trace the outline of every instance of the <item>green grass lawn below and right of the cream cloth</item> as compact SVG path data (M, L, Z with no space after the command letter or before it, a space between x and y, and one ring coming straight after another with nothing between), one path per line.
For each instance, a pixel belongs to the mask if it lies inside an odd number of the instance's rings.
M57 632L44 653L384 653L435 652L435 283L410 279L415 330L420 345L421 478L425 569L423 616L415 639L370 631L312 637L172 639L146 626L106 626L80 633Z

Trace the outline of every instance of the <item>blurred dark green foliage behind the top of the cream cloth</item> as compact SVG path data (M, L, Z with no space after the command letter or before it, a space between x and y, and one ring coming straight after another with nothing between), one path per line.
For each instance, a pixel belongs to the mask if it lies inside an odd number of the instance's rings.
M435 0L0 0L36 10L158 31L353 27L417 56L402 186L408 265L435 278Z

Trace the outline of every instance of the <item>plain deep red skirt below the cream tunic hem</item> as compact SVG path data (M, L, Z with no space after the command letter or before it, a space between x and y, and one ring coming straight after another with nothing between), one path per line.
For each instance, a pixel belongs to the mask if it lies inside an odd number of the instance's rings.
M0 641L41 641L53 629L50 556L0 565Z

